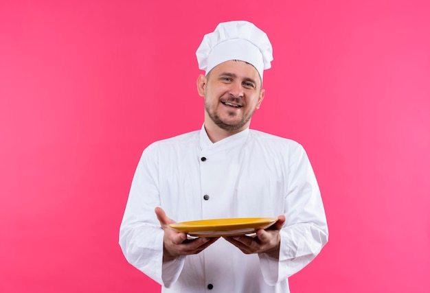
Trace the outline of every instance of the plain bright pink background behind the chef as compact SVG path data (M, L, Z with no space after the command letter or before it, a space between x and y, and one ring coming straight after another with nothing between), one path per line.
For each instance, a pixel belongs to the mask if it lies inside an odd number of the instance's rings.
M148 2L148 3L146 3ZM251 124L302 143L330 241L293 292L430 292L429 1L0 1L0 292L159 292L117 244L152 141L196 130L194 52L274 47Z

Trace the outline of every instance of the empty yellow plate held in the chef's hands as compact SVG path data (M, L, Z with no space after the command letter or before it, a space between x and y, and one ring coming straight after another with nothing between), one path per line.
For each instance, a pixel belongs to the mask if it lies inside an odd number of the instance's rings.
M196 237L227 237L255 233L269 228L276 218L226 218L170 224L170 228Z

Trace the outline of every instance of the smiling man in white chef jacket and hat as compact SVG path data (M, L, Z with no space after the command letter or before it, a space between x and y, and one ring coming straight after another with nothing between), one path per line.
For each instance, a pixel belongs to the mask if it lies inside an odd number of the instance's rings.
M289 292L288 277L319 253L328 228L302 146L249 129L264 99L271 43L252 23L231 21L207 34L196 55L206 71L197 80L204 124L144 150L120 245L162 292ZM276 215L256 235L192 239L168 227Z

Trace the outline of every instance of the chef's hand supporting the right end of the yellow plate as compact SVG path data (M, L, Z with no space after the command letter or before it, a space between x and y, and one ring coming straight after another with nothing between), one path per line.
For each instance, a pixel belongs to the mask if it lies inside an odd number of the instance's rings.
M260 229L254 236L231 236L225 239L242 250L242 253L266 253L270 257L279 259L280 230L285 223L285 216L278 216L278 221L266 230Z

